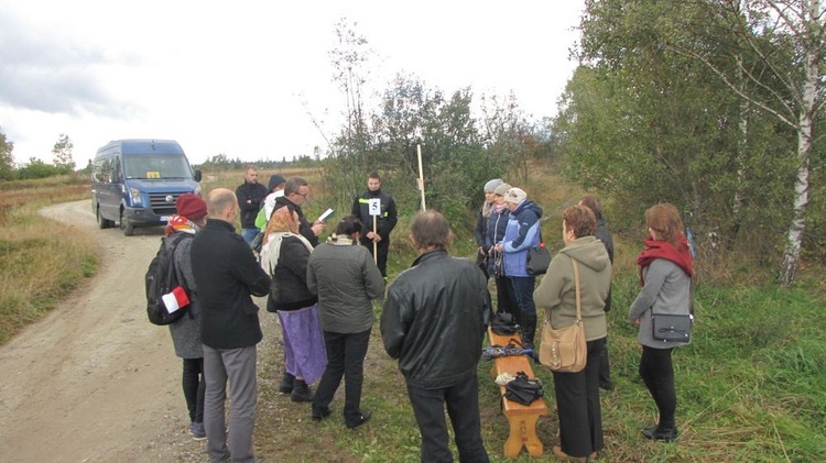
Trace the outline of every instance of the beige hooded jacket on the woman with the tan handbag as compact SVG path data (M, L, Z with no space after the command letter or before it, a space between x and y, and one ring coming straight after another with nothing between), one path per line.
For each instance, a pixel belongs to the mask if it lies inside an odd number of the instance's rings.
M545 320L551 317L554 329L565 328L576 321L576 286L572 260L579 264L585 338L588 341L605 338L605 300L611 287L611 261L605 245L596 236L583 236L559 250L551 260L547 273L533 291L536 307L545 309Z

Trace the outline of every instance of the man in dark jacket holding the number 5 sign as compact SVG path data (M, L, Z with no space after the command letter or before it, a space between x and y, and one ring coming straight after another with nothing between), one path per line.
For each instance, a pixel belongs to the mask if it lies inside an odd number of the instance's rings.
M373 216L370 214L370 200L379 199L380 210L376 217L376 232L373 232ZM376 265L381 271L384 280L388 279L388 252L390 250L390 232L395 228L399 217L393 198L381 190L381 176L373 172L367 176L367 191L352 201L352 216L363 223L361 244L373 254ZM376 250L373 250L373 246Z

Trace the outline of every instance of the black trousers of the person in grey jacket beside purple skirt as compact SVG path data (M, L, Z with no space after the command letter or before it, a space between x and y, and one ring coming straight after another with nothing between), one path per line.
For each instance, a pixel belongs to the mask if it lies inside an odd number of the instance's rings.
M370 342L370 330L359 333L324 332L327 367L313 398L313 415L322 416L329 409L341 377L345 378L345 422L357 425L361 419L361 385L365 382L365 355Z

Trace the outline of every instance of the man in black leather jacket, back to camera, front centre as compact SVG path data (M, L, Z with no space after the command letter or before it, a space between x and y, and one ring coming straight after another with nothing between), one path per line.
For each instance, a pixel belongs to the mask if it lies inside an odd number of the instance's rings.
M490 294L485 274L466 258L450 257L450 228L436 211L411 224L419 250L413 266L388 288L381 315L387 353L399 360L422 434L422 462L453 461L445 405L459 460L487 462L479 419L479 382Z

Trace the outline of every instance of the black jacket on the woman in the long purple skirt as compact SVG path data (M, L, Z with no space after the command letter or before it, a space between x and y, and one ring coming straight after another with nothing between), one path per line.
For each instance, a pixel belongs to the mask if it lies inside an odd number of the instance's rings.
M307 289L307 261L309 250L301 239L284 236L281 240L279 265L272 272L272 287L267 298L267 310L298 310L318 301Z

